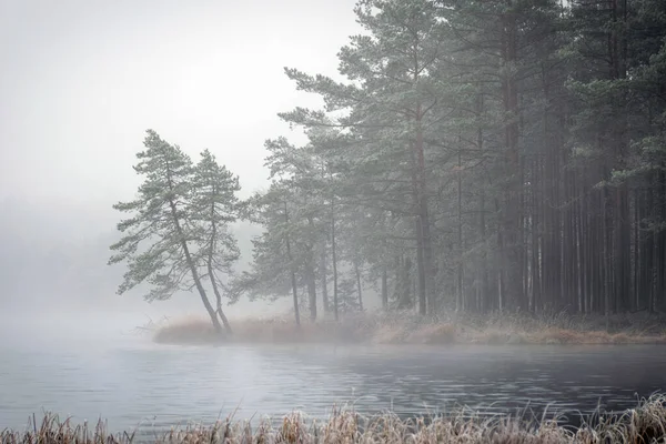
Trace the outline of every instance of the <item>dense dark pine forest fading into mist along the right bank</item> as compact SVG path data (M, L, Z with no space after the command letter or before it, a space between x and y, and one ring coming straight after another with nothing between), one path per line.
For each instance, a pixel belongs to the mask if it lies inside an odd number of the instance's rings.
M290 295L296 320L363 310L367 286L423 315L666 306L666 2L355 13L344 81L285 69L323 108L279 115L307 141L266 141L270 188L234 203L264 231L231 300Z

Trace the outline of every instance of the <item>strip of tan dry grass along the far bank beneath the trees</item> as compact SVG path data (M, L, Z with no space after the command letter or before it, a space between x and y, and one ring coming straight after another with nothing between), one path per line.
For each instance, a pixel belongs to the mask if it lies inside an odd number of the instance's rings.
M153 339L165 344L220 341L241 343L367 344L666 344L666 320L636 314L614 316L442 316L412 313L345 316L340 322L285 317L232 320L233 336L220 339L204 317L165 320Z

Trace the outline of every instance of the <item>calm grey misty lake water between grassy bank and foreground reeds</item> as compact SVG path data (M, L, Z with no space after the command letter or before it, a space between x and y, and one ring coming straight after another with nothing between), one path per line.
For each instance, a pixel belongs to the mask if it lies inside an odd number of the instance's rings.
M324 416L343 403L401 415L456 404L589 413L597 404L633 407L666 389L663 346L165 346L88 329L0 331L0 430L22 430L43 411L101 416L115 431L234 411L238 418L293 410Z

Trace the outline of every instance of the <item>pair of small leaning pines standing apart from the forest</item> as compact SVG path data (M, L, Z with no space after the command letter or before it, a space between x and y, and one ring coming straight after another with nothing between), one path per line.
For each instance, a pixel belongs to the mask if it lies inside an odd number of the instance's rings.
M178 145L148 130L145 150L137 153L134 171L144 178L135 200L113 208L130 216L118 224L122 239L111 245L109 264L127 262L119 294L148 283L147 301L167 300L195 289L211 322L222 332L231 326L222 311L223 275L232 273L239 249L229 223L236 219L239 180L206 150L193 165ZM216 297L211 305L204 282ZM233 301L232 301L233 302ZM220 320L218 319L220 316Z

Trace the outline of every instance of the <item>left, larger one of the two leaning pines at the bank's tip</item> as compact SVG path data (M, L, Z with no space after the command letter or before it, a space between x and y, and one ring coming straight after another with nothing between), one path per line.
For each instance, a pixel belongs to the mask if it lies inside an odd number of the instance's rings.
M196 225L191 221L192 161L179 147L148 130L144 151L134 167L144 176L138 196L113 208L131 215L118 224L123 238L111 245L109 264L127 262L118 294L149 283L144 299L163 301L178 291L196 289L218 333L223 333L198 270ZM193 251L194 250L194 251Z

